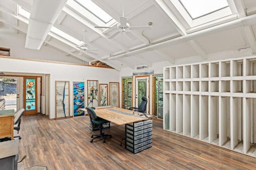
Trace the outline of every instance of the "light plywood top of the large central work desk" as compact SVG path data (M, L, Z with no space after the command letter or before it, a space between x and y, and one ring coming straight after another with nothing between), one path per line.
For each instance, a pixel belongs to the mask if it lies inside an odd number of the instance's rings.
M86 109L82 109L86 111ZM122 109L119 107L98 107L95 110L98 117L108 120L116 125L125 125L137 121L146 120L144 115L133 114L132 110Z

